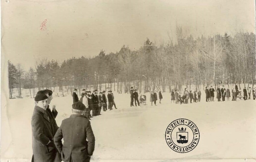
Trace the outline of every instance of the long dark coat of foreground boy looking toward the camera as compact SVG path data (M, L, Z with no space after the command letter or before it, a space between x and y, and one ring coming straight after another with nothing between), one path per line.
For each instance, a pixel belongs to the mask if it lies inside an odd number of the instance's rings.
M52 140L58 128L51 123L52 116L47 114L49 113L44 111L41 107L35 106L31 120L33 149L32 161L60 162L59 153ZM47 145L49 141L51 142Z

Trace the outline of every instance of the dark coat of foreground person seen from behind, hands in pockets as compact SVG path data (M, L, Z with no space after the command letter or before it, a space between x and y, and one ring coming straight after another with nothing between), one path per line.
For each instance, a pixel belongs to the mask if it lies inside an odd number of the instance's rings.
M64 119L53 140L62 161L70 161L72 156L73 161L85 162L88 161L88 155L93 155L95 137L90 121L83 115L73 114Z

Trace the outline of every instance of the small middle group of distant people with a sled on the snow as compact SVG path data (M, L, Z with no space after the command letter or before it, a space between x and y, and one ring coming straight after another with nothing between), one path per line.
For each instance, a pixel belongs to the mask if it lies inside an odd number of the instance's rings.
M163 99L161 91L158 92L158 95L159 95L159 103L161 104L161 100ZM133 89L133 87L130 88L130 98L131 98L130 107L134 106L133 102L135 102L135 106L137 106L137 104L138 104L138 106L140 106L140 104L146 104L146 96L138 94L137 89ZM152 106L153 102L156 105L156 102L157 102L156 91L150 92L150 102L151 102L151 106Z

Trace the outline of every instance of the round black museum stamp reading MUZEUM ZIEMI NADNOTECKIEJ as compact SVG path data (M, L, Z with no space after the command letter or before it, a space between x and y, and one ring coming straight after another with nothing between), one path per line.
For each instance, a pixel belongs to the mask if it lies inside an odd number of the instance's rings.
M167 145L175 152L186 153L193 150L199 142L197 126L188 119L176 119L168 125L165 132Z

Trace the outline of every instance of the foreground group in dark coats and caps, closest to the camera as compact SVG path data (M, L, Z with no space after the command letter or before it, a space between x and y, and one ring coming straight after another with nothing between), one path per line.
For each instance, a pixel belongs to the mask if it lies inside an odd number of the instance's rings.
M32 162L89 162L95 148L90 121L84 116L86 107L80 101L72 104L72 115L56 124L55 105L50 109L52 91L38 91L32 115ZM64 143L62 143L62 139Z

